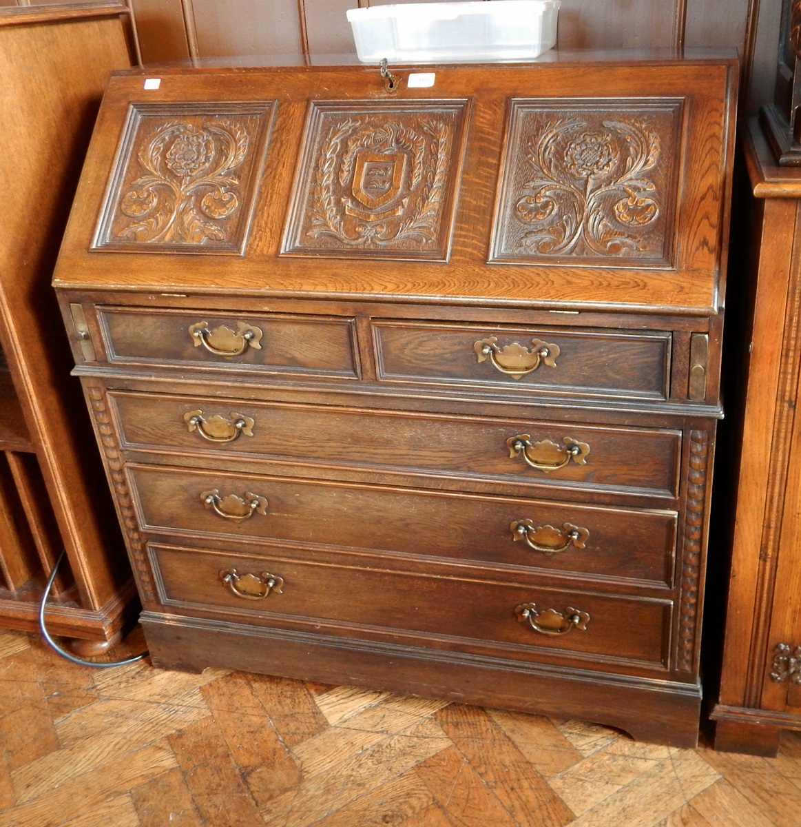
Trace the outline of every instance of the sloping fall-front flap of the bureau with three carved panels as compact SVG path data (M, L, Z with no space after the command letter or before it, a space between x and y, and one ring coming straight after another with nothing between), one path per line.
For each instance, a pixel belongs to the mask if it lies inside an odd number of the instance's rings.
M116 74L56 284L715 312L736 61L595 58Z

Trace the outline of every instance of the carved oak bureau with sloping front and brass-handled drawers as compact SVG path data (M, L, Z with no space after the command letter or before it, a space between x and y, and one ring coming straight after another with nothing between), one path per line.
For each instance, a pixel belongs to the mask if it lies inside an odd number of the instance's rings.
M696 743L736 84L115 74L55 287L154 663Z

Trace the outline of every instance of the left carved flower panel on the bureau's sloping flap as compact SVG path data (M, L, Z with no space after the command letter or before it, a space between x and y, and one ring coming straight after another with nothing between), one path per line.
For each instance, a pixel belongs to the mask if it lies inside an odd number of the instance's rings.
M132 106L93 248L241 253L273 110Z

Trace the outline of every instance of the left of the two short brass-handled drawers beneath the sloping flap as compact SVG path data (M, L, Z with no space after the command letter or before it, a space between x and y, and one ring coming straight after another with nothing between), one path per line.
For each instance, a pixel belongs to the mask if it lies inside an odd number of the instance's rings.
M359 375L352 318L103 307L98 321L112 363Z

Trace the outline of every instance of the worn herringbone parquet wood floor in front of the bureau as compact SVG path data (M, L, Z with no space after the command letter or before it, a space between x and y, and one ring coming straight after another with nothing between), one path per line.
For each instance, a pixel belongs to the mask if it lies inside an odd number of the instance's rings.
M799 827L778 758L242 672L98 670L0 630L0 827Z

